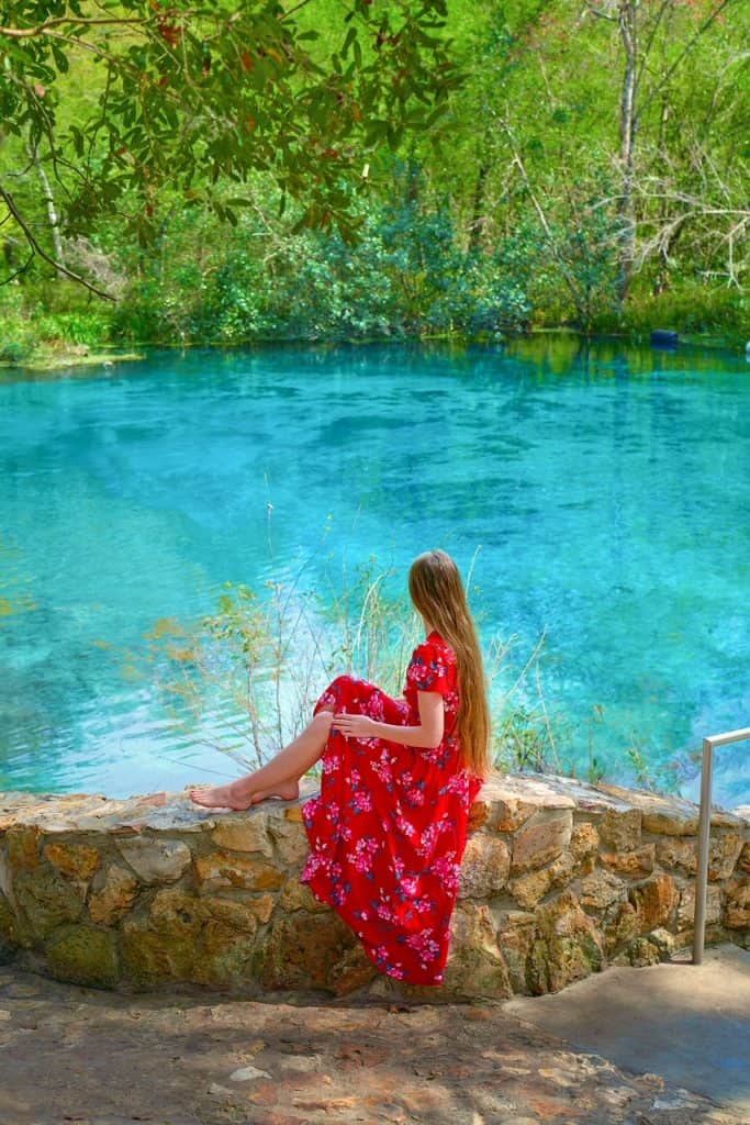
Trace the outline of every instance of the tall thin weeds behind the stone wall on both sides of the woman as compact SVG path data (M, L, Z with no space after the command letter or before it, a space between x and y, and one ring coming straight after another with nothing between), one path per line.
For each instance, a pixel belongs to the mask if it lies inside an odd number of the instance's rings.
M399 695L422 637L407 597L389 592L392 568L377 558L342 567L335 580L324 572L316 585L308 569L272 568L260 590L226 583L214 612L195 626L165 620L148 634L152 682L174 721L197 724L204 741L243 770L257 768L306 726L336 675ZM542 685L544 637L508 678L509 654L521 645L485 638L495 767L563 772Z

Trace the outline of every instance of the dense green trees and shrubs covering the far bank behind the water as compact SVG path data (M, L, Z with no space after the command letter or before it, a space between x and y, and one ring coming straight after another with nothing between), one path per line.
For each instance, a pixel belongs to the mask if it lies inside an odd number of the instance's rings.
M747 339L741 0L286 8L274 61L273 29L254 52L226 29L279 6L0 3L0 360L558 325ZM66 35L25 34L71 11ZM103 30L102 12L132 24ZM118 50L115 90L101 55ZM242 129L188 104L196 66Z

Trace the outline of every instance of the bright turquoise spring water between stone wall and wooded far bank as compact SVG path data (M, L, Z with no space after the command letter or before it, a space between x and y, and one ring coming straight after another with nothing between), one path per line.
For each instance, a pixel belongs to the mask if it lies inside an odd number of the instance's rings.
M631 781L635 745L693 795L701 738L750 722L742 358L542 338L6 374L0 461L0 789L236 773L134 669L160 619L268 576L269 504L275 565L313 580L327 521L326 555L404 580L427 547L464 569L479 548L482 632L521 664L544 632L584 776L594 755ZM719 758L717 798L750 801L750 746Z

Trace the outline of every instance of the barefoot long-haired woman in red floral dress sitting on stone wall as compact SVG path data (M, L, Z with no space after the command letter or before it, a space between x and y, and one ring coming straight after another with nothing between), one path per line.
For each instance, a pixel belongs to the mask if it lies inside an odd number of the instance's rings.
M469 810L490 770L481 652L455 562L426 551L409 594L426 638L403 699L340 676L313 721L268 765L198 804L247 809L295 800L323 757L320 795L302 806L310 842L301 881L361 939L370 960L412 984L442 984Z

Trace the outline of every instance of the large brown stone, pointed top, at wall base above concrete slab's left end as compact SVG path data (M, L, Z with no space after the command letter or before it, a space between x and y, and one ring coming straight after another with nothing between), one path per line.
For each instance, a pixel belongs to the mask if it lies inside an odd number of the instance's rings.
M534 994L557 992L598 972L603 962L602 936L572 891L540 907L528 970Z

